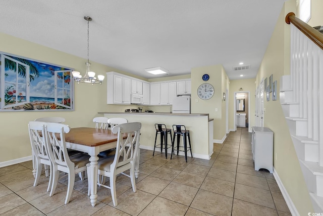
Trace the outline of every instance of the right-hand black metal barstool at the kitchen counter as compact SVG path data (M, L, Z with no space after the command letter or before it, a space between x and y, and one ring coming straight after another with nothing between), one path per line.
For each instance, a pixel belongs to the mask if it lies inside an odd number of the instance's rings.
M176 124L173 125L173 131L174 131L174 138L173 138L173 143L172 143L171 160L172 160L173 153L174 153L175 136L177 136L177 147L175 147L177 150L177 155L178 155L179 151L184 152L185 153L185 161L187 162L187 151L188 150L190 150L191 157L193 157L192 156L192 149L191 149L190 131L186 129L185 125L176 125ZM183 147L180 147L181 136L183 136L183 143L184 143ZM187 148L186 136L188 137L188 145L189 145L188 148ZM180 150L180 148L184 148L184 150Z

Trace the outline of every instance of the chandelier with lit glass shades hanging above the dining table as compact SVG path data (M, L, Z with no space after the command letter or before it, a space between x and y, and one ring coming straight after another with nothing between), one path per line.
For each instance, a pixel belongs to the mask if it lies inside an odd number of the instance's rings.
M79 83L90 83L92 84L101 84L102 81L104 80L104 76L103 75L98 75L97 79L95 77L95 73L93 71L90 71L90 65L91 63L89 62L89 22L92 21L91 17L85 16L84 20L87 21L87 62L85 62L86 64L86 73L85 75L82 77L82 75L80 75L79 71L72 71L72 75L74 77L74 81Z

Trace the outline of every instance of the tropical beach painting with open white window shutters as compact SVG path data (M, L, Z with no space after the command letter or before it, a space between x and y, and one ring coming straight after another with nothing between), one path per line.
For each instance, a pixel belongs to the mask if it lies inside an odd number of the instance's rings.
M0 52L0 111L74 110L72 69Z

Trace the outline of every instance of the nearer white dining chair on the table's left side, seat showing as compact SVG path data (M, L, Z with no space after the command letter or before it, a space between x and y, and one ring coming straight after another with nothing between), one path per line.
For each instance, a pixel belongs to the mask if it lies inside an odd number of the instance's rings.
M54 195L59 180L60 171L68 174L68 186L65 204L69 203L74 187L75 174L86 171L86 164L89 162L89 155L78 154L69 157L65 133L70 127L61 123L46 123L46 147L48 156L52 163L52 185L49 196Z

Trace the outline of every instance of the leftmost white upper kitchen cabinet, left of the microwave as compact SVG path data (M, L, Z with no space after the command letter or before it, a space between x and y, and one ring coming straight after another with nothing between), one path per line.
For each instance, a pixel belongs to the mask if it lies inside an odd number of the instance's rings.
M131 80L115 72L106 73L106 78L107 104L130 104Z

